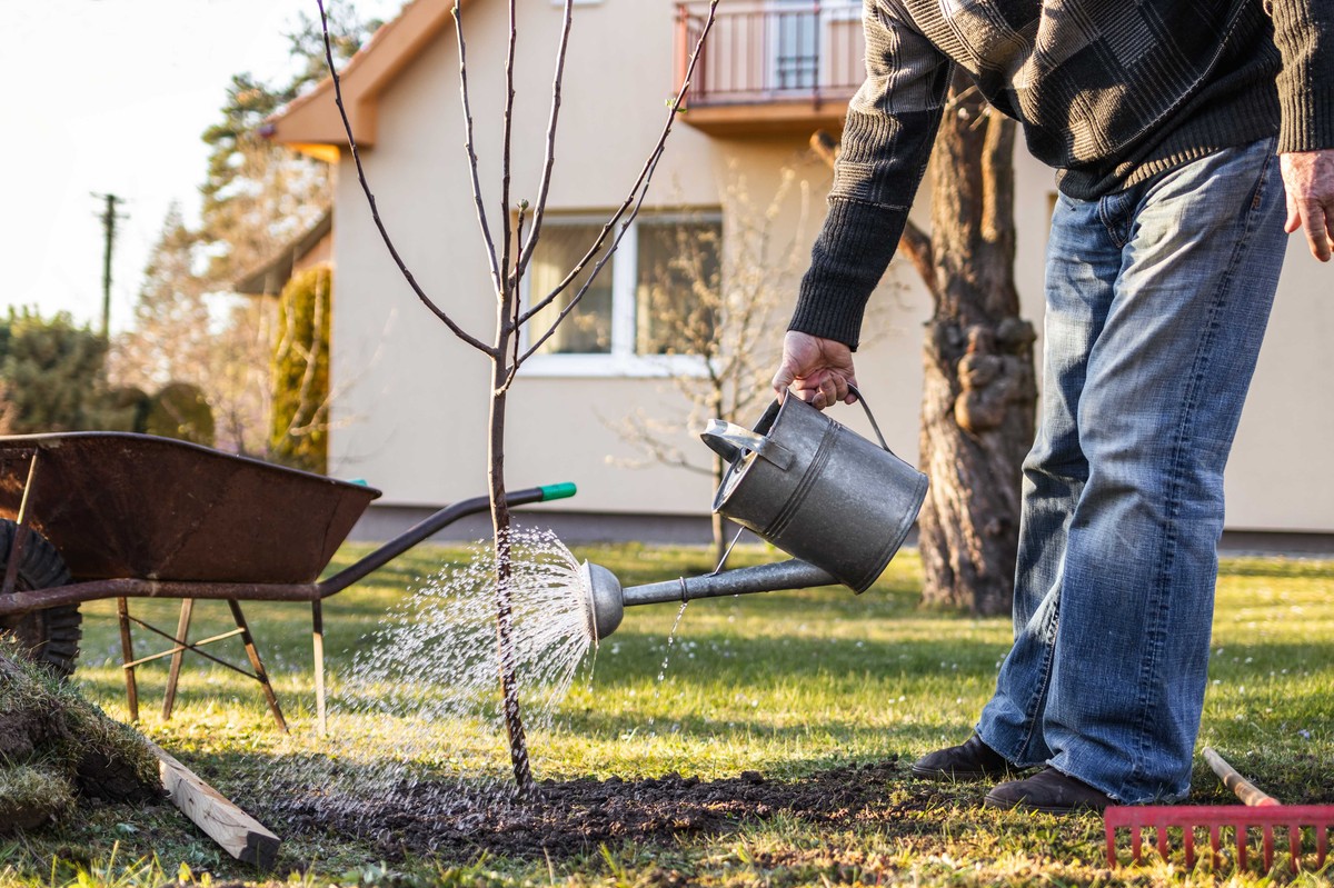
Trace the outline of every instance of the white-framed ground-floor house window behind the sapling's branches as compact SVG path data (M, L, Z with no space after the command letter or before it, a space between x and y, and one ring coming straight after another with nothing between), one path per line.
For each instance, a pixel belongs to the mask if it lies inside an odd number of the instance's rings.
M546 217L528 277L530 304L570 273L600 229L600 221L586 217ZM611 235L607 245L610 241ZM712 336L720 256L722 219L716 213L640 216L579 304L539 347L528 369L544 375L688 372L688 364L698 364L699 343ZM527 328L530 337L555 323L595 264L596 257L538 312Z

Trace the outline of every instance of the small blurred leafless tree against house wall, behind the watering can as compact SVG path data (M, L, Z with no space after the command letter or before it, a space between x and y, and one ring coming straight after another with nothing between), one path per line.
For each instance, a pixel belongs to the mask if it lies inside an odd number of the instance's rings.
M798 192L800 205L795 235L776 243L783 207ZM638 449L643 459L615 460L619 465L662 464L707 475L722 484L726 463L719 456L687 456L672 439L683 429L699 429L708 419L747 424L758 403L768 397L768 377L776 353L760 344L772 336L775 315L786 307L804 255L810 185L791 167L766 207L756 207L746 179L735 171L724 192L723 224L714 231L692 220L670 231L672 249L664 267L652 271L646 309L654 327L671 329L670 356L687 355L694 372L671 373L671 387L686 401L674 419L639 411L608 425ZM722 235L722 237L719 237ZM719 243L719 240L722 243ZM696 448L703 451L703 448ZM723 516L712 515L716 560L726 553Z

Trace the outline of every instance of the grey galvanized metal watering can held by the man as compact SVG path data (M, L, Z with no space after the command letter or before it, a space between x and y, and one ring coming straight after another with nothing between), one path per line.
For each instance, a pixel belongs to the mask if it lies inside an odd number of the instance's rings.
M806 401L774 401L746 429L710 420L700 435L728 461L714 511L788 555L787 561L622 588L600 564L584 561L588 632L616 631L627 607L723 595L843 584L864 592L903 544L926 499L927 476L895 456L880 435L872 444Z

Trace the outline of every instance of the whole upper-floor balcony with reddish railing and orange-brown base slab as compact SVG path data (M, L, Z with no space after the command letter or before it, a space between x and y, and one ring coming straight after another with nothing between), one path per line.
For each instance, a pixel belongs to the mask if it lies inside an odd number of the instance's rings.
M676 4L678 88L707 13L707 3ZM714 136L842 129L864 51L859 0L724 0L683 120Z

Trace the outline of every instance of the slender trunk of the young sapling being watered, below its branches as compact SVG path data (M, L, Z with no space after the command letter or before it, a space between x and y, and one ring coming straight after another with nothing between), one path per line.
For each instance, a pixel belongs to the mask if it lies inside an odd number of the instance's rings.
M504 324L504 315L502 315ZM500 693L504 707L504 727L510 739L510 764L519 793L532 792L532 769L528 764L528 743L523 733L519 712L519 683L515 675L514 611L510 603L511 540L510 505L504 487L504 417L506 417L506 336L499 337L498 356L492 359L491 375L491 436L488 439L488 479L491 481L491 527L496 557L496 651L500 664Z

